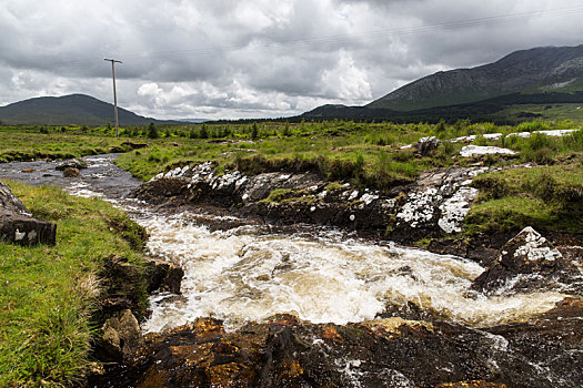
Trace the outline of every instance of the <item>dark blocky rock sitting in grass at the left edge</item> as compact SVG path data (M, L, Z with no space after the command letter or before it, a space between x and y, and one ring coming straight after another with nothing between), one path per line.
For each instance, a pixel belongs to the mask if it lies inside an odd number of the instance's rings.
M10 187L0 182L0 238L26 246L54 245L57 225L32 217Z

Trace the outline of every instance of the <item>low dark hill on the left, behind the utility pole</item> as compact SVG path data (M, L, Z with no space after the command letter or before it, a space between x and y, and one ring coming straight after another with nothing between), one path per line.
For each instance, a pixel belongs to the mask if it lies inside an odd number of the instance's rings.
M111 125L115 123L113 105L86 94L63 96L42 96L0 106L0 121L3 124L26 125ZM177 123L144 118L118 106L121 126Z

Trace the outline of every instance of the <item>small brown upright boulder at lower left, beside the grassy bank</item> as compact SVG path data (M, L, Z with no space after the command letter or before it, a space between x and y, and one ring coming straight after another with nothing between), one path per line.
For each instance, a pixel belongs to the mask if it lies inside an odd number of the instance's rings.
M130 309L123 309L113 314L101 327L100 359L131 360L143 344L138 319Z

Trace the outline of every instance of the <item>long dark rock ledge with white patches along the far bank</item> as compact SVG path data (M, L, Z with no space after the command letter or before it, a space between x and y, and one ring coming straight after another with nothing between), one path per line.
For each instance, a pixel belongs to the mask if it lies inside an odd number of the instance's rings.
M282 194L271 198L275 190ZM398 206L390 195L376 191L350 185L326 190L326 183L313 173L247 176L234 171L215 176L210 163L160 174L133 195L154 204L211 204L275 224L312 223L376 232L384 232Z

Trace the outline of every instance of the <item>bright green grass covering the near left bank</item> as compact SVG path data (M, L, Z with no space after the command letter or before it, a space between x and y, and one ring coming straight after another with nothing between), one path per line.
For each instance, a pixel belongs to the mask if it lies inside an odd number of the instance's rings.
M140 268L140 228L100 200L9 185L34 216L58 226L56 246L0 242L0 386L81 384L98 302L107 293L99 273L112 257ZM145 285L132 288L145 303Z

